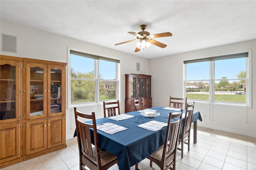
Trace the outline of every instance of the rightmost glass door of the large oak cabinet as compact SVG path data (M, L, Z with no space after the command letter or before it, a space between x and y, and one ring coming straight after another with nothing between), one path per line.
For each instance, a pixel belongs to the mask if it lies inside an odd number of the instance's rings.
M60 66L48 66L48 77L50 77L50 82L48 82L48 97L50 98L50 115L54 113L61 113L62 112L62 76L63 76L63 69ZM48 78L49 79L49 78ZM50 92L50 93L49 93ZM48 98L48 99L49 99Z

